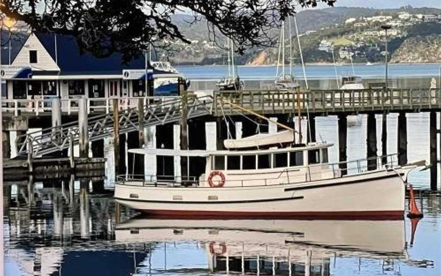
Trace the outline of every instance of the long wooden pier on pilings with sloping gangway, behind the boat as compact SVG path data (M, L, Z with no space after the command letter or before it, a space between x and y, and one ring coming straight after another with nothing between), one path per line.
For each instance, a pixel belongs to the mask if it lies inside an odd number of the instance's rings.
M207 140L204 144L216 145L220 149L223 147L223 143L217 142L227 137L227 131L225 131L227 128L226 122L222 118L224 116L234 116L234 121L237 122L237 124L233 124L235 125L233 127L236 127L236 136L237 133L242 135L242 132L247 134L250 132L247 129L250 127L250 124L247 125L246 120L243 121L243 116L238 115L243 115L244 109L249 109L254 113L272 117L276 121L285 124L292 124L292 118L298 116L299 113L302 116L308 114L310 121L308 122L307 131L302 131L304 132L303 136L308 137L308 141L315 140L315 123L313 118L316 116L337 115L339 160L346 161L347 116L358 114L366 114L368 116L366 157L375 157L377 154L377 120L375 116L382 116L381 124L383 129L385 129L387 123L386 115L388 113L398 113L397 148L399 163L406 164L408 161L406 114L430 112L430 162L432 164L430 179L431 188L437 189L437 165L434 164L438 162L436 157L437 151L441 151L441 145L437 145L436 142L437 133L439 133L436 124L436 113L441 111L440 88L199 91L198 93L186 92L180 97L104 99L106 104L104 108L100 106L99 108L101 109L93 107L95 106L92 104L94 101L95 99L85 98L78 100L76 102L78 104L75 109L76 114L74 114L74 116L78 115L78 121L72 121L70 117L70 122L64 124L61 122L66 116L66 113L63 111L63 99L56 98L51 101L52 108L50 113L45 109L38 111L38 108L34 108L30 113L27 113L29 117L21 121L16 118L22 117L14 117L14 115L17 112L23 114L25 113L24 110L18 109L17 111L16 107L3 108L2 111L6 115L5 118L7 120L7 122L4 121L4 141L9 141L8 131L10 130L25 133L18 136L17 152L21 155L28 155L30 159L32 159L33 155L44 155L67 149L72 151L74 145L80 145L80 153L82 153L80 156L86 157L89 142L91 142L94 143L91 146L92 152L94 152L93 157L102 158L104 157L103 152L99 148L103 147L102 141L104 137L113 137L115 169L118 173L125 173L127 166L122 159L126 158L125 150L127 149L120 147L120 145L125 145L126 141L130 148L152 143L156 139L156 126L175 124L176 127L173 128L173 134L170 133L171 135L166 137L166 139L169 139L171 136L171 139L178 141L172 141L171 145L174 145L172 146L174 148L187 148L189 145L187 141L192 136L189 133L192 128L189 127L187 131L187 121L191 120L192 123L195 123L198 120L202 120L206 123L205 132L214 131L214 139L217 140L215 142ZM29 108L32 104L24 103L24 106ZM32 114L32 112L37 111L38 113ZM29 127L30 120L33 120L32 118L43 118L41 117L42 115L52 118L52 120L48 120L52 127L43 128L41 134L37 136L26 134L25 131ZM216 126L213 128L212 124ZM152 128L155 130L152 130ZM210 131L207 129L210 129ZM134 132L133 135L131 132ZM311 135L308 135L308 132ZM127 135L127 133L131 134ZM151 136L152 133L153 137ZM309 136L311 136L310 139ZM206 139L208 139L207 135ZM191 141L189 143L193 144ZM156 142L153 141L152 145L156 145ZM385 131L382 132L381 145L384 154L384 152L387 152L387 133ZM128 167L130 168L133 166L131 162L133 161L128 160ZM154 162L154 165L156 166L156 162ZM187 173L185 160L178 167L180 167L179 171L182 170L181 173ZM176 170L175 168L175 172Z

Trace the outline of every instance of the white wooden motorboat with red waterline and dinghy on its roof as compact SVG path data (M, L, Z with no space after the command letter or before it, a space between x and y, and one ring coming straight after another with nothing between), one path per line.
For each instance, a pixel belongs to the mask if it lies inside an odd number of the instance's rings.
M269 119L268 119L269 120ZM279 124L279 123L278 123ZM280 125L280 124L279 124ZM291 133L286 132L291 131ZM133 154L205 157L199 176L118 177L117 202L153 215L401 219L408 172L396 155L330 163L326 142L293 144L293 130L226 140L226 150L131 149Z

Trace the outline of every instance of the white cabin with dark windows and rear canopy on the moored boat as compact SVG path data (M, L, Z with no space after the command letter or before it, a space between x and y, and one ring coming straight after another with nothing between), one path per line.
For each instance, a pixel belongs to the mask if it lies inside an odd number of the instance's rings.
M234 187L276 185L338 177L340 174L338 168L328 165L330 146L332 144L310 143L252 150L131 149L129 152L152 156L203 156L206 158L205 173L195 176L193 181L189 181L192 183L185 185Z

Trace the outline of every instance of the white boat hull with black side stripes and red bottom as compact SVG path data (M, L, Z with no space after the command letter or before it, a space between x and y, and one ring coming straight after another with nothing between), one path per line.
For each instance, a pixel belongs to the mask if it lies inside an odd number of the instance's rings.
M401 219L404 194L401 176L392 170L267 186L115 185L115 199L130 208L191 217Z

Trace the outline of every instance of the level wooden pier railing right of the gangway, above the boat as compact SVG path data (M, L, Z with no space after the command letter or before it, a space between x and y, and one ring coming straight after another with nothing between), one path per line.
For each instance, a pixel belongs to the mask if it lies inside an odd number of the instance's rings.
M261 114L338 113L421 110L441 108L441 89L362 89L362 90L242 90L215 91L213 113L234 115L240 109L220 99Z

